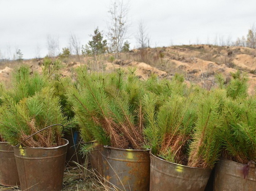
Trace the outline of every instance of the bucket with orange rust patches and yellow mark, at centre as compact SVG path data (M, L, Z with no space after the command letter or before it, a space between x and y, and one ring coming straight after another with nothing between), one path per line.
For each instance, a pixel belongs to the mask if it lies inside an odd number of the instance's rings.
M148 191L149 151L103 147L105 184L125 191Z

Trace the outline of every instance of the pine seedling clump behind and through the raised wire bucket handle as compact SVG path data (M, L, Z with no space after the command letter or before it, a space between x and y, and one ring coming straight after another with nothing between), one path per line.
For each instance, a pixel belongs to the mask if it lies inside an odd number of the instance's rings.
M33 97L15 103L10 97L0 108L0 134L12 145L24 141L29 135L53 125L70 125L62 115L59 98L53 88L45 87ZM55 147L61 145L62 127L48 128L23 142L24 147Z

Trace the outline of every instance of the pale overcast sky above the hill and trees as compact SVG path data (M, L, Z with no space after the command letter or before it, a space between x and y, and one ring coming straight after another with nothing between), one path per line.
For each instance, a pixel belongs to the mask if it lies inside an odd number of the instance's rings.
M98 26L107 33L107 0L0 0L1 57L10 57L20 49L24 58L47 53L47 35L59 39L60 49L67 47L69 35L81 44ZM124 0L124 2L128 2ZM135 36L142 20L150 45L193 44L246 36L256 24L256 0L130 0L128 41L137 46Z

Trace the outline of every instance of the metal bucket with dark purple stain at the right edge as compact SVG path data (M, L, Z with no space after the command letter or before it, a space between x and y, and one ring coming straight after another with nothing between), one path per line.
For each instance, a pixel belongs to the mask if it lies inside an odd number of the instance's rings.
M255 191L255 162L246 164L221 159L215 168L214 191Z

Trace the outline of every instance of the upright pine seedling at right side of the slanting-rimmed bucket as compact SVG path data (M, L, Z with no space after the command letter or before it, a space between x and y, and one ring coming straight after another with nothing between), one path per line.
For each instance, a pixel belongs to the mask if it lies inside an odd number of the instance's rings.
M188 166L212 168L220 155L218 131L222 128L221 98L225 91L214 90L199 98L198 119L189 148Z

